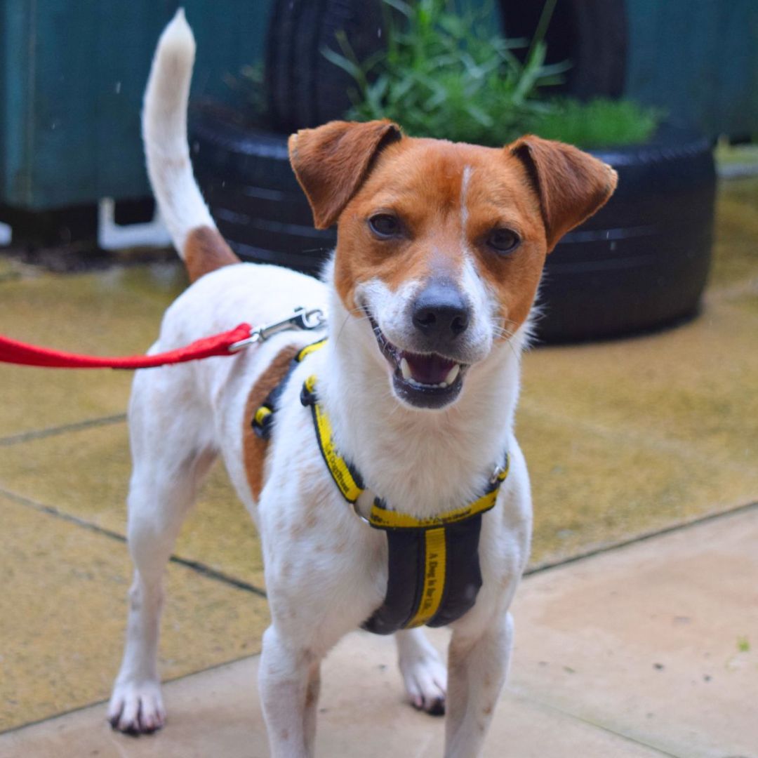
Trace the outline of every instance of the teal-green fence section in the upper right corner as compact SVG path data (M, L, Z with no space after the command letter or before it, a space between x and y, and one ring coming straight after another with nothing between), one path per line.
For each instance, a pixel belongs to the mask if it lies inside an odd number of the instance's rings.
M758 2L627 0L627 95L716 136L758 133Z

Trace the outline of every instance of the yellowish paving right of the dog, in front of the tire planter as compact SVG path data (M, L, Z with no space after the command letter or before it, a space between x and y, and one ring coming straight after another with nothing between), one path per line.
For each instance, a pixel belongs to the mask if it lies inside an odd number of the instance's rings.
M756 198L756 177L719 186L697 319L525 356L533 565L758 500Z

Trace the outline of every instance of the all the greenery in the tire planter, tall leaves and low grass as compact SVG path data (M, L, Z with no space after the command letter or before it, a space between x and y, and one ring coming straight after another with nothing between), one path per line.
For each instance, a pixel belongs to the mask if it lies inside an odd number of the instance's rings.
M387 49L365 61L344 33L340 51L322 52L355 81L347 117L389 118L413 136L500 146L525 132L580 146L647 139L657 114L630 102L587 105L550 99L545 88L562 81L568 61L546 64L544 34L556 0L547 0L531 41L492 35L448 0L384 0ZM515 50L526 49L523 61Z

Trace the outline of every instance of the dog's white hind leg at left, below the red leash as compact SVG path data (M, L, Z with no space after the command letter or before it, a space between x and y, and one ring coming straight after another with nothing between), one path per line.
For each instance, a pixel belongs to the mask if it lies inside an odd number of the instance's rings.
M169 371L178 379L183 368ZM197 487L215 459L202 437L207 425L199 410L189 403L177 409L176 393L149 381L153 378L137 374L130 406L128 542L135 571L124 659L108 707L111 725L130 733L155 731L164 722L158 676L163 574Z

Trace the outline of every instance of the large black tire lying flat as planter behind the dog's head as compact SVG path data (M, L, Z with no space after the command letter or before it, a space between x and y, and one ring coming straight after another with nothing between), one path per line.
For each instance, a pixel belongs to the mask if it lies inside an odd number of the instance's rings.
M334 230L312 227L284 136L199 114L196 175L221 233L246 260L318 271ZM594 151L619 189L548 258L541 340L614 337L697 312L709 268L716 173L711 146L663 127L644 146Z

